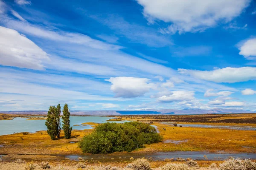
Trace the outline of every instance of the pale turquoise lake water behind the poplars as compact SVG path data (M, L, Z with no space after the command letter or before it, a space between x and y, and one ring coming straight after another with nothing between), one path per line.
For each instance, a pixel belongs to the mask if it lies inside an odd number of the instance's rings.
M70 125L72 125L73 129L76 129L76 130L92 129L93 127L91 127L90 125L83 126L81 125L81 123L86 123L86 122L105 123L107 122L106 120L113 119L113 118L115 117L70 116ZM123 122L124 121L117 121L116 123L123 123ZM79 125L79 126L74 126L74 125ZM45 126L45 120L26 120L26 118L20 118L20 117L14 118L13 120L0 120L0 135L8 135L8 134L20 133L20 132L34 133L40 130L47 130L47 127Z

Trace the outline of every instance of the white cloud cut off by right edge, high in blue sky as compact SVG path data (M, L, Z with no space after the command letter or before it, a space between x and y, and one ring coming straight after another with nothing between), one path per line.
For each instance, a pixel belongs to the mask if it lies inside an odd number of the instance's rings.
M246 59L256 59L256 38L245 41L239 50L239 54Z

